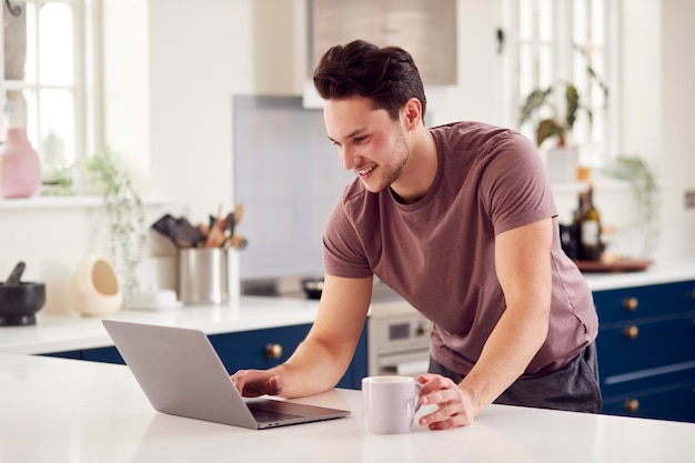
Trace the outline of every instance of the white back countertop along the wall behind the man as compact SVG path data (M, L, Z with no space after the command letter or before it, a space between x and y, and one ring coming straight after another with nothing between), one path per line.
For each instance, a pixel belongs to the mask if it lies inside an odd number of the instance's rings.
M643 272L586 273L592 291L695 280L695 258L657 262ZM242 296L239 306L187 305L165 311L122 309L110 319L194 328L207 334L312 323L319 302L308 299ZM38 354L113 345L99 318L38 314L32 326L0 328L0 352Z

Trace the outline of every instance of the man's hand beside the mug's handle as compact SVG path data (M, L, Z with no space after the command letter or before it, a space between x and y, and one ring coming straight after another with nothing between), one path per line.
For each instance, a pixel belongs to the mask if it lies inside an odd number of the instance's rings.
M437 406L437 410L420 419L421 425L431 430L446 430L473 422L477 411L471 393L439 374L421 374L417 382L422 384L420 402L423 405Z

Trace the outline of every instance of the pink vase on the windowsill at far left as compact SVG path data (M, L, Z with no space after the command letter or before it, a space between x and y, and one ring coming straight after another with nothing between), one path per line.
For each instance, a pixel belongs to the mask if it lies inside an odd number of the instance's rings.
M39 153L24 128L7 128L0 145L0 198L30 198L41 187Z

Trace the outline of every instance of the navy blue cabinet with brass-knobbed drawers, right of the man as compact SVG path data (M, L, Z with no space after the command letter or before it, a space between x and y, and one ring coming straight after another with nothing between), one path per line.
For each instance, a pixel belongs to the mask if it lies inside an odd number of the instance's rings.
M603 412L695 422L695 281L596 291Z

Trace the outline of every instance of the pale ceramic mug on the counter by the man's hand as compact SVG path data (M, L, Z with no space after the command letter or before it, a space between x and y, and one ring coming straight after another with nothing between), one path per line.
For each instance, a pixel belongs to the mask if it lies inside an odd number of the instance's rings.
M410 376L362 379L364 422L375 434L399 434L413 427L421 385Z

